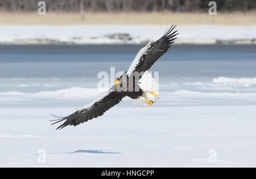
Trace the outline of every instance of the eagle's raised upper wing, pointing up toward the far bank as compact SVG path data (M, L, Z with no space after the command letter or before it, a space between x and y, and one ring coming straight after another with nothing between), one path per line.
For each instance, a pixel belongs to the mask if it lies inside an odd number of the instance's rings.
M150 69L155 61L166 53L171 47L171 44L174 43L174 40L177 39L175 38L177 35L177 31L174 31L175 27L176 26L172 25L162 38L153 43L148 43L146 47L142 48L135 57L133 63L130 65L126 74L130 76L130 74L134 72L141 73Z

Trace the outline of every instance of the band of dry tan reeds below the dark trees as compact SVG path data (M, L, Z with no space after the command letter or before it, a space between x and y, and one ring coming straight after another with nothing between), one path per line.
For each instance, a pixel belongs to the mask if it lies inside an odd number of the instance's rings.
M79 13L0 13L2 25L79 25L79 24L209 24L209 25L256 25L256 12L219 13L172 13L170 11L151 13L92 13L85 12L84 20Z

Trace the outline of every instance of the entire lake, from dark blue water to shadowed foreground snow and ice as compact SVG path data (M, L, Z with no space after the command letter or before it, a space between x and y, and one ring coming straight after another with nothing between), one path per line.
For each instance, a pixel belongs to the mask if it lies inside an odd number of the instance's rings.
M256 166L255 45L174 45L151 68L157 103L135 108L125 98L55 131L50 114L92 101L98 72L127 70L141 47L0 46L0 166Z

